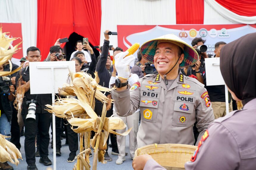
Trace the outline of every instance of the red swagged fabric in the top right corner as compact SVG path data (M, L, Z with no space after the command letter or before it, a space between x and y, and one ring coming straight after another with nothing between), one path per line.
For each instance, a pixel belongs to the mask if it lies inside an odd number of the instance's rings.
M242 16L256 16L255 0L215 0L221 6Z

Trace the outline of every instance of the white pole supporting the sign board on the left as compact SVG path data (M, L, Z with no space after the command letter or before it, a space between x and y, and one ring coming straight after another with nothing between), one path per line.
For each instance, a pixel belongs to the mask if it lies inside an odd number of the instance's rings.
M54 103L55 93L54 93L54 68L51 68L51 82L52 82L52 93L51 100ZM56 130L55 130L55 115L52 114L52 135L53 135L53 169L56 170Z

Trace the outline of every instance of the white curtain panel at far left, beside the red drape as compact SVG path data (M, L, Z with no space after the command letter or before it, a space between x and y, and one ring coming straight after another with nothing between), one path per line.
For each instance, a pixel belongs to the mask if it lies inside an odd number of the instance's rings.
M0 0L0 23L21 23L23 56L26 49L36 46L37 0ZM19 60L12 60L20 65Z

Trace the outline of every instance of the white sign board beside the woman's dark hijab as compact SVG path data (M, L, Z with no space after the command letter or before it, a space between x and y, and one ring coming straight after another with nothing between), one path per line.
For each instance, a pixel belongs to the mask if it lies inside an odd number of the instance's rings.
M221 75L219 57L205 58L205 74L206 74L207 86L216 86L216 85L225 84Z

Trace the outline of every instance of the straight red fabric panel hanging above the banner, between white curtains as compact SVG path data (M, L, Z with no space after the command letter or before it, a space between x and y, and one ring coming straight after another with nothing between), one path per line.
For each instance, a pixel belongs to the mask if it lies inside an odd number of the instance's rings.
M176 1L176 24L204 24L204 0Z

